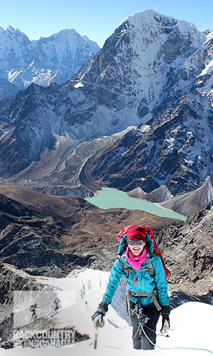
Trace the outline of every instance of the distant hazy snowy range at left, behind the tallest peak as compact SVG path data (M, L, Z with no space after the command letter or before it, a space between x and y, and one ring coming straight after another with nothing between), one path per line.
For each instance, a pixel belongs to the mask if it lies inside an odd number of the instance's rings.
M0 98L31 83L65 83L99 49L97 43L72 28L30 41L18 28L0 27Z

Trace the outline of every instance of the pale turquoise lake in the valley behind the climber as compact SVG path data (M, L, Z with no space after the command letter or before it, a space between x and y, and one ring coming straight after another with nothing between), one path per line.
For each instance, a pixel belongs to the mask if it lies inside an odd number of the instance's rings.
M99 190L99 194L86 199L89 203L98 206L101 209L110 208L125 208L125 209L138 209L146 211L147 213L168 217L171 219L180 219L185 221L185 216L182 216L174 211L160 208L150 201L136 199L129 197L125 192L116 189L104 188Z

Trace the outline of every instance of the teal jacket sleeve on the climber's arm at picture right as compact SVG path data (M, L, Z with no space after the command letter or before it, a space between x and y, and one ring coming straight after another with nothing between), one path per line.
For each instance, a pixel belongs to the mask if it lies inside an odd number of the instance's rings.
M155 283L158 290L158 300L160 305L169 305L168 283L165 278L165 271L159 256L155 256L153 260L155 268Z

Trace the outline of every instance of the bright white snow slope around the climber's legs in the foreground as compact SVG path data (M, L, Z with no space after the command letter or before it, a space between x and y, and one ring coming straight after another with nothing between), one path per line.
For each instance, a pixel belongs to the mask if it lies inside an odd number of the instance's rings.
M91 339L79 342L72 347L60 348L60 355L138 355L133 350L131 341L131 326L121 318L124 313L125 288L120 284L109 311L105 316L105 326L99 329L97 350L93 348L94 328L91 315L102 300L102 294L108 282L109 273L83 269L73 272L66 278L38 278L38 282L60 288L72 290L76 293L76 303L58 312L62 325L75 325L80 333L88 333ZM64 295L62 293L62 295ZM65 305L65 303L64 303ZM124 315L124 314L123 314ZM161 318L160 318L161 319ZM212 342L213 305L188 302L171 311L170 337L159 335L157 344L160 348L155 351L143 351L143 355L210 355L213 351ZM159 334L160 322L158 323ZM173 348L174 347L174 348ZM179 349L175 349L179 347ZM186 349L180 350L180 347ZM188 348L188 349L187 349ZM191 350L191 348L205 350ZM165 350L170 349L170 350ZM16 347L10 350L1 350L1 355L58 355L58 348L45 347L26 349Z

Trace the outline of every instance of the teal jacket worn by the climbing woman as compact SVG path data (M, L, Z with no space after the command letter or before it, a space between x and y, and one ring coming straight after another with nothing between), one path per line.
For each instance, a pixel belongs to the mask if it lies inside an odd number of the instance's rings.
M153 290L158 290L158 301L160 305L169 305L168 298L168 283L165 278L165 271L159 256L153 253L153 241L151 237L146 234L146 239L150 245L150 252L147 253L146 260L143 263L143 266L136 271L133 267L130 266L128 259L126 258L126 253L123 250L123 244L126 241L126 235L121 238L118 258L114 262L114 265L111 268L111 274L109 276L109 283L107 284L106 292L103 295L102 302L111 303L111 299L114 297L114 293L119 285L121 278L127 279L126 288L136 292L136 293L151 293ZM126 277L124 273L124 265L129 266L129 276ZM152 263L155 275L151 276L148 271L144 269ZM134 283L136 279L136 283ZM131 297L131 300L136 303L137 298ZM141 305L145 306L153 302L151 296L141 297Z

